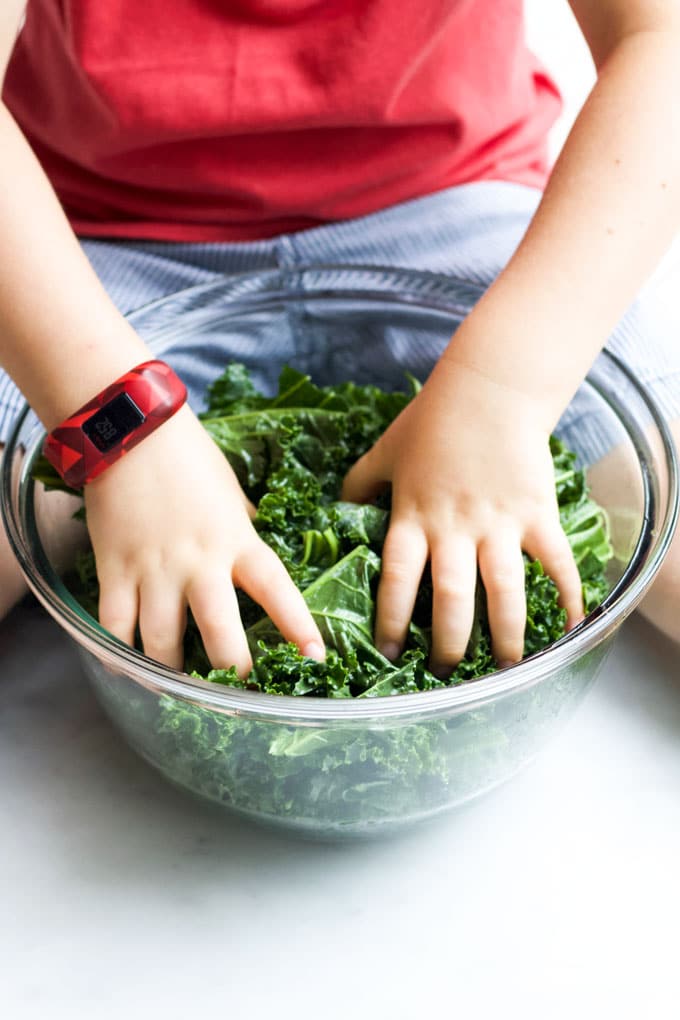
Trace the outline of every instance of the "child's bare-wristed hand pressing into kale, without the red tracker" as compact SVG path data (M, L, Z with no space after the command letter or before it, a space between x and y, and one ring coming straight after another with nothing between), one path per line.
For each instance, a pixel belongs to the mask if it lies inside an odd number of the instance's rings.
M355 502L391 482L375 630L387 658L404 645L428 559L435 673L448 675L465 654L477 565L500 664L522 657L522 550L556 581L567 625L582 618L581 582L560 526L548 439L537 404L525 394L442 360L348 473L343 498Z

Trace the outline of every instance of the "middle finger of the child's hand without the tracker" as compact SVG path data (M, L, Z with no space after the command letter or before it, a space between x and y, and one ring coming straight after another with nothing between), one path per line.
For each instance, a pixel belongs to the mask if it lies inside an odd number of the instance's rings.
M432 549L432 650L430 669L448 677L470 640L477 585L477 550L468 539L449 539Z

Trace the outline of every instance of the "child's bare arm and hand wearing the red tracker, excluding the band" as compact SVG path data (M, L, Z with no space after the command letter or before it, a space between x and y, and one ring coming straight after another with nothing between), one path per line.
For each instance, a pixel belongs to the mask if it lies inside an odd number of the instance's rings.
M5 13L6 57L17 21ZM49 429L151 355L99 283L2 104L0 152L0 364ZM86 486L85 499L100 621L121 641L133 643L139 621L145 652L180 668L189 607L212 664L244 675L251 656L238 585L289 641L323 658L302 595L256 533L236 475L189 407Z

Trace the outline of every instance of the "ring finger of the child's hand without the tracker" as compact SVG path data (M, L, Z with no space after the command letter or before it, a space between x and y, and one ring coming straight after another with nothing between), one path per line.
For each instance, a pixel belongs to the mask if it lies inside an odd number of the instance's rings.
M499 531L480 544L478 556L493 656L500 666L519 662L526 626L524 560L519 536L510 530Z

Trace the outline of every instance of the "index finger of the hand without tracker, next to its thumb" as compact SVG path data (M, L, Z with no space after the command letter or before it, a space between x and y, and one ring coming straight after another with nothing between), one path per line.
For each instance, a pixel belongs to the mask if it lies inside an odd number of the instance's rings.
M386 659L396 659L404 647L427 551L422 528L399 520L389 526L382 547L375 615L375 645Z

